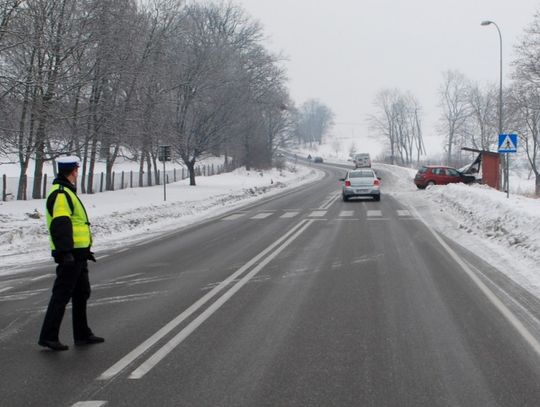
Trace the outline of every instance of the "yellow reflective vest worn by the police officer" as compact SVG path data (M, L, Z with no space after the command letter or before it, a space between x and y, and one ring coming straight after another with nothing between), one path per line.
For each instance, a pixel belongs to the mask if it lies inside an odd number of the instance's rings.
M71 227L73 232L73 248L85 249L92 245L92 234L90 232L90 222L88 221L88 215L82 202L79 200L77 194L71 191L69 188L60 184L54 184L47 196L47 200L52 194L56 194L54 205L52 206L52 213L47 209L47 229L49 230L49 241L51 249L56 250L52 236L51 236L51 223L54 219L60 216L67 216L71 220Z

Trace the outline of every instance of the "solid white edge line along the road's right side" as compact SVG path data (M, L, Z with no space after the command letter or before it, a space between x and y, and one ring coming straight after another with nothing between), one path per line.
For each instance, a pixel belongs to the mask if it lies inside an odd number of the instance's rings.
M462 260L459 255L441 238L438 232L435 231L427 222L420 216L416 209L412 209L415 212L417 218L422 220L422 223L426 228L435 236L435 239L440 245L448 252L448 254L454 259L456 263L467 273L471 280L478 286L480 291L491 301L491 303L499 310L499 312L506 318L506 320L516 329L523 339L531 346L531 348L540 356L540 342L534 337L525 325L508 309L506 305L484 284L484 282L471 270L471 268Z

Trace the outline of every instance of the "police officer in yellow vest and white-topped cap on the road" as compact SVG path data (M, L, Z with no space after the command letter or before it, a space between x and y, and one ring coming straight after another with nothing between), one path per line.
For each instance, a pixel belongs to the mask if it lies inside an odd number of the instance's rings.
M38 344L55 351L68 349L60 342L58 333L69 300L75 345L105 341L93 334L86 319L86 302L90 297L87 261L96 260L90 251L92 236L88 215L77 197L79 162L75 156L57 159L58 176L47 196L47 227L52 256L58 266Z

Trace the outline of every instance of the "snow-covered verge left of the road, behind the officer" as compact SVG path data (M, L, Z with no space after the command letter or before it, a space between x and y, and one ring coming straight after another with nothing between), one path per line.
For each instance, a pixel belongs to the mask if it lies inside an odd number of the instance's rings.
M92 222L94 249L123 246L178 229L322 177L314 168L265 172L237 169L163 186L82 195ZM0 202L0 275L50 258L44 200Z

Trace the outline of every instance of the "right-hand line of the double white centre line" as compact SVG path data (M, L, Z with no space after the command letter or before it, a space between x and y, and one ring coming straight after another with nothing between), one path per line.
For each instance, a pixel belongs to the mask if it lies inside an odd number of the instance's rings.
M174 336L169 342L163 345L157 352L155 352L150 358L148 358L143 364L135 369L130 379L140 379L146 373L148 373L154 366L156 366L165 356L174 350L180 343L184 341L191 333L193 333L204 321L206 321L212 314L214 314L223 304L225 304L240 288L242 288L252 277L254 277L259 271L261 271L270 261L275 259L287 246L289 246L298 236L300 236L311 224L312 220L307 221L294 235L287 239L281 246L279 246L273 253L270 253L268 257L262 260L253 270L247 273L238 283L232 286L225 294L219 297L212 305L210 305L204 312L202 312L197 318L189 323L184 329L182 329L176 336Z

